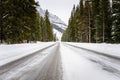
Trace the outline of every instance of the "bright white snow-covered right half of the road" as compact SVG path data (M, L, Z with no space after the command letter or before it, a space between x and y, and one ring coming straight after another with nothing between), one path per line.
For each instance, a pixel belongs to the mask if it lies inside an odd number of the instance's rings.
M64 51L63 51L64 50ZM120 60L61 45L64 80L120 80Z

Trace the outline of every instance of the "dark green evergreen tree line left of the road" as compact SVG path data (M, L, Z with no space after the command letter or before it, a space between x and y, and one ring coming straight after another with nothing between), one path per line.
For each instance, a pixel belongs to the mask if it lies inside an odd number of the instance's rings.
M49 12L41 17L35 0L1 0L0 42L23 43L52 41L53 31Z

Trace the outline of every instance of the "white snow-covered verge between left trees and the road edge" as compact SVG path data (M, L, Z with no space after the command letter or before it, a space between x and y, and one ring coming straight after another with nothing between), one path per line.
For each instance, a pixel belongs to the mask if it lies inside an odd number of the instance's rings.
M0 66L31 54L37 50L43 49L53 42L38 42L38 43L25 43L25 44L13 44L13 45L0 45Z

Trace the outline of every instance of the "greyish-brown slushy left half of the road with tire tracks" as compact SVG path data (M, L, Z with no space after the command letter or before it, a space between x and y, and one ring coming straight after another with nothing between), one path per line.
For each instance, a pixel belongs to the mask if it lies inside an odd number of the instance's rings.
M0 67L0 80L62 80L58 51L56 43L6 64Z

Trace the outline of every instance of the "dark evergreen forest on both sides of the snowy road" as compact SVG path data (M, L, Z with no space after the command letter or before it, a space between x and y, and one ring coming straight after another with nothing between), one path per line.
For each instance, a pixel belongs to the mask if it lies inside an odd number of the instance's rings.
M35 0L1 0L0 43L53 41L46 10L42 17ZM120 1L80 0L73 6L62 41L120 43Z

